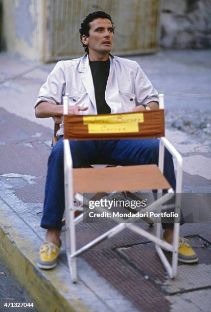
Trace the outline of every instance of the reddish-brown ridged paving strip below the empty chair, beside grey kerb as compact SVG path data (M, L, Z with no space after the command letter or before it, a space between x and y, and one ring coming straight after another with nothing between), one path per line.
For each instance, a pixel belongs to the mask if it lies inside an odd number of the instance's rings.
M84 253L83 257L140 311L170 310L170 302L165 298L165 293L128 265L115 251L108 248L92 249Z

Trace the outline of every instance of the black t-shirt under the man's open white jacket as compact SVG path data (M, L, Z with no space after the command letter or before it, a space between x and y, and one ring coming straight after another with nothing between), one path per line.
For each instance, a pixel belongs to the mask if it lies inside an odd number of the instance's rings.
M111 109L105 100L105 90L110 70L110 60L90 61L91 75L95 88L95 99L98 114L110 114Z

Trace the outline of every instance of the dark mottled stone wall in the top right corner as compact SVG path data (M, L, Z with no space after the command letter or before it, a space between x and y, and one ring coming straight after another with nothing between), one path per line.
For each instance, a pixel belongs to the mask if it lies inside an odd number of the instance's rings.
M211 0L161 0L160 46L211 47Z

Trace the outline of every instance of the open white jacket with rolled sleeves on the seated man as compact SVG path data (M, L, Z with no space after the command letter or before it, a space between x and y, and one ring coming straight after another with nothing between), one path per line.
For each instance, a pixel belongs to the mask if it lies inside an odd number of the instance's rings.
M80 114L97 114L88 55L58 62L41 87L36 105L40 101L62 104L63 95L68 96L71 106L88 107L87 111L80 111ZM140 104L158 102L158 94L137 62L110 55L105 100L111 114L115 114L129 112Z

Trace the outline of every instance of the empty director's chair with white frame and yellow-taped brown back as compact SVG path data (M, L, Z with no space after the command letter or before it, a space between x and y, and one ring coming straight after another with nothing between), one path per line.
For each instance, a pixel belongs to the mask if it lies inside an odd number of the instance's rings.
M66 254L72 281L77 282L77 256L105 239L113 237L125 228L153 241L156 251L170 278L176 277L178 262L179 223L174 223L173 244L161 239L161 223L156 226L156 236L129 223L119 223L98 238L77 250L75 226L82 221L82 214L74 217L74 196L82 201L81 193L122 192L135 190L157 190L157 200L142 210L142 213L158 211L172 204L167 204L174 195L174 190L163 176L165 147L177 162L176 193L181 193L182 158L171 143L165 138L165 117L163 95L159 95L159 110L113 115L68 115L68 98L63 98L64 112L64 185L66 219ZM68 140L109 140L109 139L148 139L159 138L159 162L157 165L138 165L106 168L73 168L71 148ZM103 179L101 178L103 176ZM143 179L144 177L144 179ZM164 195L162 191L166 190ZM92 198L93 199L93 198ZM161 207L161 205L164 205ZM101 207L101 211L103 208ZM180 198L176 197L175 212L180 212ZM116 220L115 220L116 221ZM161 247L172 251L172 263L167 260Z

